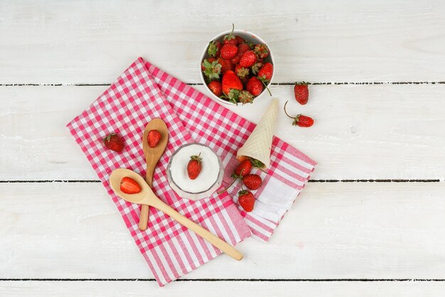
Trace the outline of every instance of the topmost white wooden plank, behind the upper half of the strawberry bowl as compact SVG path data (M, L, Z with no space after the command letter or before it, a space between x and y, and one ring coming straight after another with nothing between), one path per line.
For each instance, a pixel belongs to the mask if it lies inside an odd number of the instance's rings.
M269 43L275 82L444 80L442 1L207 4L7 1L1 6L0 82L112 82L139 55L200 82L204 46L232 22Z

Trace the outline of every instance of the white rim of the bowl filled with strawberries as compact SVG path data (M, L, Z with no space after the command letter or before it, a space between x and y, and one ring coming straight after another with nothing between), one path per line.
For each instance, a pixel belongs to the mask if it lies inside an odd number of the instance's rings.
M229 34L230 32L232 32L232 31L230 30L230 31L225 31L225 32L219 33L217 36L215 36L214 38L210 39L210 41L215 40L215 41L220 41L221 43L223 43L224 36ZM267 42L263 41L262 38L257 36L257 34L249 32L249 31L246 31L246 30L235 30L235 31L233 31L233 35L241 36L248 43L253 43L253 44L265 43L267 45L267 48L269 49L269 55L267 56L267 58L264 59L264 61L265 62L270 62L270 63L272 63L272 65L274 65L274 72L272 72L272 77L270 79L269 84L267 85L267 87L270 87L270 84L272 83L272 80L274 79L274 75L275 75L275 61L274 61L274 56L272 55L272 50L269 48L269 45L267 44ZM221 99L220 97L218 97L215 94L213 94L213 92L210 91L210 89L208 88L207 84L205 83L204 75L203 75L203 72L201 71L201 63L203 63L204 59L209 58L207 50L208 50L208 43L207 43L207 45L205 45L205 48L203 50L203 54L201 55L200 63L198 65L198 67L199 67L198 69L199 69L199 72L200 72L200 77L201 77L201 80L202 80L202 82L204 84L204 87L209 92L210 97L213 97L215 100L217 100L217 101L219 101L219 102L221 102L223 104L234 105L234 103L229 102L229 101L227 101L225 99ZM267 93L266 88L264 88L264 90L262 91L261 94L259 94L257 97L255 97L255 100L258 97L264 95L264 93ZM267 93L267 95L269 95L269 94Z

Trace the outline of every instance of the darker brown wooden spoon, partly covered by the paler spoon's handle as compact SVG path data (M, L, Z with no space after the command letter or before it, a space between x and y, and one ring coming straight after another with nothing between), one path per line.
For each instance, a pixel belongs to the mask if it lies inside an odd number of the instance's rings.
M147 135L150 130L158 130L161 134L161 141L159 144L151 148L147 142ZM161 158L163 151L165 151L168 141L168 129L165 121L162 119L152 119L149 121L149 124L145 126L144 136L142 136L142 148L144 148L144 155L146 161L146 183L149 184L149 187L152 187L153 181L153 173L154 168L156 168L156 164ZM139 229L144 231L146 230L147 224L149 222L149 205L142 205L141 207L141 215L139 217Z

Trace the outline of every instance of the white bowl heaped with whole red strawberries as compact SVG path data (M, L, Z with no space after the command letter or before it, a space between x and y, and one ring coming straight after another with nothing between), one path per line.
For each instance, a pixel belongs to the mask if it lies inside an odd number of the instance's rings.
M267 44L244 30L219 33L208 43L200 63L200 75L213 98L224 104L253 103L269 91L274 77L274 58Z

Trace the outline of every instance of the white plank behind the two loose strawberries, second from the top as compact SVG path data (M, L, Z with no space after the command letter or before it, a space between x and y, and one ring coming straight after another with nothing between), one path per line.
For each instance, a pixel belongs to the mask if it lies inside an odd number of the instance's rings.
M65 124L106 88L0 87L0 180L97 179ZM316 121L303 129L281 113L277 126L318 161L312 178L445 178L445 85L316 85L306 106L291 86L272 92L281 106L291 99L291 114ZM258 121L268 104L262 97L231 109Z

